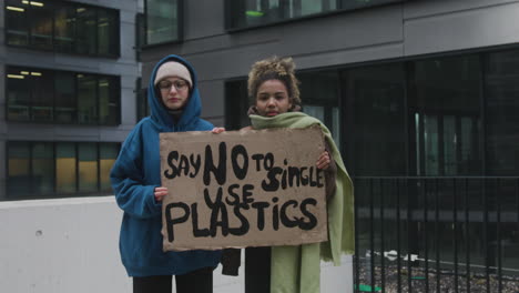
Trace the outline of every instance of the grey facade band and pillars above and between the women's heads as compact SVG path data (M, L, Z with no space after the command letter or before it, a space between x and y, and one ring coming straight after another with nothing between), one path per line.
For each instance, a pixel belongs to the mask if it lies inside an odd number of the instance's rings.
M225 80L246 77L258 59L292 55L315 69L517 43L518 14L518 0L420 0L227 33L224 0L186 1L185 40L145 49L143 77L167 53L185 57L203 115L223 124Z

